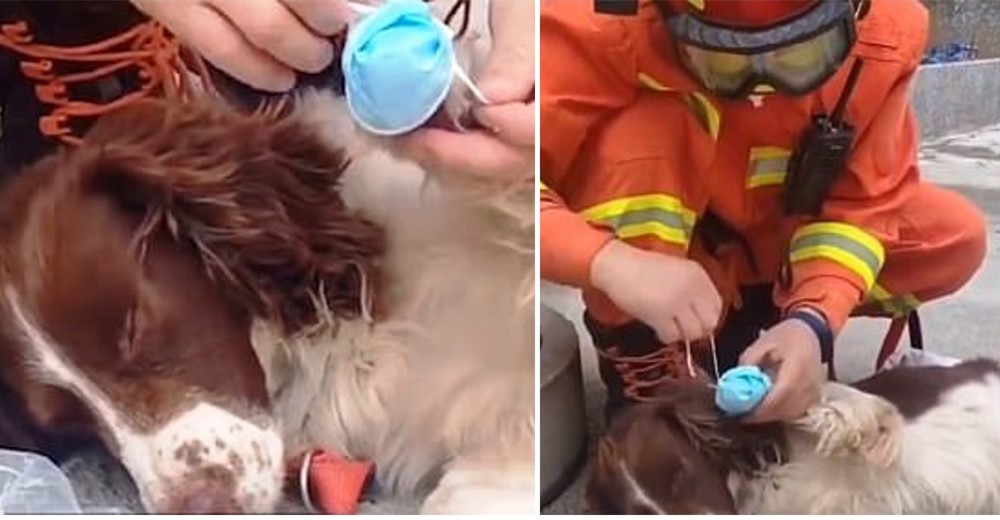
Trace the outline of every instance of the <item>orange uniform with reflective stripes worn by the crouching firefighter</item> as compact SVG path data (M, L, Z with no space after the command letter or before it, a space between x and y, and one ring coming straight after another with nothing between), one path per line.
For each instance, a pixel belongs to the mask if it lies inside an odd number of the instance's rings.
M900 316L956 291L981 265L986 232L973 205L920 180L908 93L927 27L918 0L875 0L851 57L818 90L723 99L677 63L650 2L628 17L596 14L587 1L543 2L542 276L582 288L608 325L631 318L589 286L589 272L615 237L699 260L731 303L738 287L787 269L777 304L814 307L835 331L859 308ZM792 149L814 114L832 110L858 58L847 169L819 217L788 217ZM693 230L709 211L749 254L705 252Z

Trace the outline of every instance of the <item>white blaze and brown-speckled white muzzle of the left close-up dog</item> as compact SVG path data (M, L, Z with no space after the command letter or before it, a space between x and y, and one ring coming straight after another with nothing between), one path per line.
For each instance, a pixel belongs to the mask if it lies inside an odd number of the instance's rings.
M100 386L76 367L43 330L37 327L11 287L4 297L27 347L25 361L40 381L72 392L102 423L128 469L143 506L151 512L162 508L178 484L197 479L200 468L218 465L232 472L235 502L248 513L274 510L281 496L283 444L277 428L268 421L257 425L229 410L192 400L183 410L151 431L139 429ZM199 463L189 465L180 456L197 452ZM238 471L237 466L245 471ZM195 482L197 482L195 480Z

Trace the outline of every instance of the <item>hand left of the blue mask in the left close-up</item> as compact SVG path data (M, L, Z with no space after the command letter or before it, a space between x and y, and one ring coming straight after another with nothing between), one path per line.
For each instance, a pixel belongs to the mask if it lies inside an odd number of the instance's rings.
M353 19L346 0L131 0L220 70L261 90L333 60L326 39Z

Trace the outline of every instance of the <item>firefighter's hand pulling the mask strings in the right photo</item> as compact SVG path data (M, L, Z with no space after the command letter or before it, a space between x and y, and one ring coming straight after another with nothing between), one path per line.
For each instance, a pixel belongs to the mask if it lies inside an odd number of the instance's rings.
M722 315L719 291L692 260L613 240L598 251L590 269L594 287L652 327L663 343L710 336Z

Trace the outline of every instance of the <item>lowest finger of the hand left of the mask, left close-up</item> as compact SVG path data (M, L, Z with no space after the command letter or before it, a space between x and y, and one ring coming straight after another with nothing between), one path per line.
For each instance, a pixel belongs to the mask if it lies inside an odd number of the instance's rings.
M185 44L206 60L243 83L272 92L295 86L295 73L260 49L215 9L201 4L186 4L185 9L166 8L168 2L141 4ZM197 29L191 26L197 20Z

